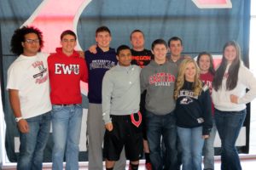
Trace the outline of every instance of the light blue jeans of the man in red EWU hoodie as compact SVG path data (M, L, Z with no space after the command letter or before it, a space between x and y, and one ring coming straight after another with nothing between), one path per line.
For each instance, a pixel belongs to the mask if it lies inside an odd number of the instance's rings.
M63 169L63 158L66 149L66 169L79 169L79 140L83 109L81 105L53 105L52 130L54 170Z

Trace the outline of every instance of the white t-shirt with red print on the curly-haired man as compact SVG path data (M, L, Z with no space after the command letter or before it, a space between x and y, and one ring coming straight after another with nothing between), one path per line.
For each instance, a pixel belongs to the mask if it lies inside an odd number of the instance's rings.
M20 55L7 73L7 89L19 90L23 118L42 115L51 110L49 99L49 54Z

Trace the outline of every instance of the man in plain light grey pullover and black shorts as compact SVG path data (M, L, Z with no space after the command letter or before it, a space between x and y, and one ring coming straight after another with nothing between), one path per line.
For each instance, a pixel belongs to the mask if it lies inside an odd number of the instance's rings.
M103 149L106 169L113 169L125 146L130 169L137 170L143 151L142 116L139 112L141 68L131 65L128 46L119 46L117 59L118 65L106 72L102 82L102 116L107 129Z

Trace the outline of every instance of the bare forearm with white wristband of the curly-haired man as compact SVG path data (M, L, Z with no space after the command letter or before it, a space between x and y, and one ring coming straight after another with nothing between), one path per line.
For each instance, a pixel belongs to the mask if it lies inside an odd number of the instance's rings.
M9 89L9 102L14 111L15 117L22 117L20 111L19 90ZM21 133L29 133L29 126L25 119L21 118L17 122L17 125Z

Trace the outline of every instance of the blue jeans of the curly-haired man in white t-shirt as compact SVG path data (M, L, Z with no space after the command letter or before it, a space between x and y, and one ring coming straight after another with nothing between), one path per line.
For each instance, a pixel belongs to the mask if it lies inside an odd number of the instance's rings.
M41 170L50 128L50 112L26 119L29 133L20 133L18 170Z

